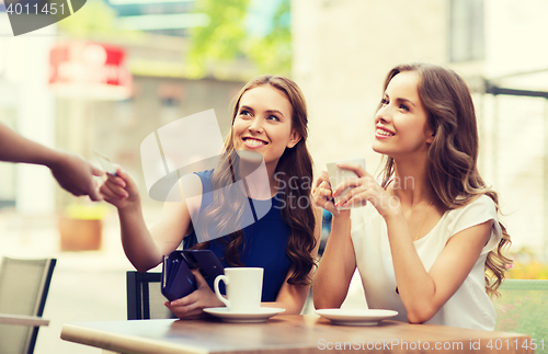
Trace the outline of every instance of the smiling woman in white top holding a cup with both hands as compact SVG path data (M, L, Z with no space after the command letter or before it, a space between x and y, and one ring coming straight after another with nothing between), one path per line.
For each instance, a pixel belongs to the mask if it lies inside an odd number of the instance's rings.
M489 296L511 263L501 252L510 236L478 172L469 90L454 71L425 64L393 68L384 89L373 142L386 157L381 183L350 163L340 167L358 178L330 186L323 172L315 183L316 204L333 214L315 306L339 308L357 267L369 308L411 323L493 330Z

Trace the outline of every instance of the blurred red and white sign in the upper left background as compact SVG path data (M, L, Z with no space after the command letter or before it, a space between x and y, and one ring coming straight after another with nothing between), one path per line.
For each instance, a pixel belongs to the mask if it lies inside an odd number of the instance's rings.
M60 95L123 100L132 93L124 48L65 43L49 54L49 85Z

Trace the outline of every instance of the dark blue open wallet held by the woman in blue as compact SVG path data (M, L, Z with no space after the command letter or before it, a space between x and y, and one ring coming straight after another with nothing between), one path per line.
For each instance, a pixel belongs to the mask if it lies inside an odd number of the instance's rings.
M210 250L176 250L163 256L161 290L173 301L190 295L196 287L196 278L191 270L199 270L206 279L215 279L225 274L219 259Z

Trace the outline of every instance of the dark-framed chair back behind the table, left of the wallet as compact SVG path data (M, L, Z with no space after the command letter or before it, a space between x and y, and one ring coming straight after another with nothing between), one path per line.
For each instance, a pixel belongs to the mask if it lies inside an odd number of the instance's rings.
M167 299L161 293L161 281L162 274L158 272L126 273L128 320L176 318L163 305Z

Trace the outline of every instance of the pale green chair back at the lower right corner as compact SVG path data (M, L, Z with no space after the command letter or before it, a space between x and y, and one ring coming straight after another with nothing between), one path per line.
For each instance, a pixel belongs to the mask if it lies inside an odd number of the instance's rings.
M496 331L529 334L538 343L548 339L548 281L505 279L496 299ZM545 343L546 345L546 343Z

